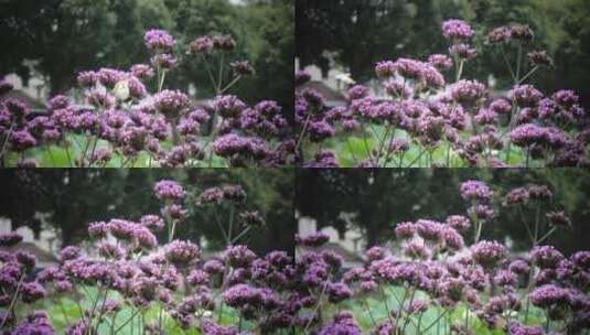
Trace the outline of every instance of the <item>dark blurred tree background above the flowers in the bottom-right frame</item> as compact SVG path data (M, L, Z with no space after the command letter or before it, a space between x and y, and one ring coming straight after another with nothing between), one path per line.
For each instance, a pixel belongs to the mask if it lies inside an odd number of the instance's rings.
M470 204L459 187L468 180L484 181L502 195L528 184L548 185L554 198L541 214L564 210L572 226L557 229L545 244L568 255L588 249L590 171L583 169L308 169L298 170L296 179L299 234L329 234L331 248L350 261L368 247L396 240L394 228L401 221L465 215ZM482 238L506 242L515 252L528 250L523 221L534 223L534 207L521 215L501 201L495 198L497 216L484 224ZM473 234L466 236L465 242Z

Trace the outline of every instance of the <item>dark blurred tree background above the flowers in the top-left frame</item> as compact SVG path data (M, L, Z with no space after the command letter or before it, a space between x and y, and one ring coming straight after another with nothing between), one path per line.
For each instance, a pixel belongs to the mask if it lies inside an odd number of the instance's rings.
M2 0L0 75L20 90L19 98L42 107L49 96L75 86L77 72L148 63L149 29L168 30L183 47L201 35L232 34L236 57L256 69L232 94L250 104L277 100L291 115L293 14L291 0ZM201 67L182 62L167 76L167 87L210 97Z

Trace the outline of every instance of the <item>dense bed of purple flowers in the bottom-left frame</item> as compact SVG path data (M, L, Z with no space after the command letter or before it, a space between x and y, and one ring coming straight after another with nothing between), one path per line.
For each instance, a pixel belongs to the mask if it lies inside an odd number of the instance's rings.
M96 248L86 253L68 246L57 267L34 274L34 256L0 252L0 328L7 334L54 334L50 316L34 306L42 300L63 306L68 299L77 304L74 315L63 309L54 313L64 313L65 334L72 335L119 334L125 328L129 334L130 325L137 334L175 328L280 334L289 328L297 310L290 291L292 257L286 251L258 257L238 244L265 226L258 212L247 208L244 190L207 188L193 204L173 181L160 181L153 191L162 202L160 215L89 224ZM203 259L197 245L175 238L189 210L236 213L228 223L218 223L227 245L218 257ZM168 242L160 246L157 235ZM2 247L21 240L18 234L0 235Z

